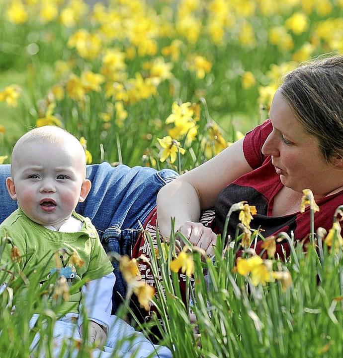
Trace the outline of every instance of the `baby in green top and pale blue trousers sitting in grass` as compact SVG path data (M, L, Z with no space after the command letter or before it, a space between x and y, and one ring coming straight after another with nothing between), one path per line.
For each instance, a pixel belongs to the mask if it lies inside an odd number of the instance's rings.
M42 282L56 271L68 283L85 277L89 280L81 292L62 305L55 338L75 336L78 331L82 336L79 307L83 297L89 343L103 346L107 342L105 351L111 352L125 333L131 337L125 357L131 357L131 351L135 357L146 357L156 349L160 357L171 357L167 348L152 345L123 320L110 315L115 282L112 265L90 220L75 212L91 188L86 179L85 151L78 139L56 126L30 130L13 148L6 187L10 197L17 200L18 209L0 225L0 238L8 235L23 255L15 269L29 272L34 267L42 272ZM59 254L49 254L53 252ZM7 244L0 264L10 261L11 244ZM33 317L33 321L36 319ZM79 330L71 325L75 321ZM106 357L106 353L97 351Z

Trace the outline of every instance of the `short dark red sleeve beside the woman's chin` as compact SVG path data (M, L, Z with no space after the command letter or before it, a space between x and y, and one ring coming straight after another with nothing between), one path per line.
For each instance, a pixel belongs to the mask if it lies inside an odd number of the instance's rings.
M248 132L243 140L244 156L253 169L260 167L264 161L261 149L272 129L271 121L267 119Z

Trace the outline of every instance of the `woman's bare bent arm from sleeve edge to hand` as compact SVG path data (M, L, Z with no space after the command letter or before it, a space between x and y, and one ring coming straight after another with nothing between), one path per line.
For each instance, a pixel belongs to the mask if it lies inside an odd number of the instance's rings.
M216 237L198 222L200 211L214 206L222 189L252 170L243 153L243 139L232 144L201 166L171 181L157 196L158 224L163 236L170 236L171 218L175 230L205 250ZM194 224L194 225L193 225Z

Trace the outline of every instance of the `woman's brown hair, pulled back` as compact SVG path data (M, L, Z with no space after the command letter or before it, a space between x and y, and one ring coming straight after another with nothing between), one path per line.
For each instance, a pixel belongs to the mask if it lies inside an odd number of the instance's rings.
M343 157L343 56L315 60L288 73L282 96L330 162Z

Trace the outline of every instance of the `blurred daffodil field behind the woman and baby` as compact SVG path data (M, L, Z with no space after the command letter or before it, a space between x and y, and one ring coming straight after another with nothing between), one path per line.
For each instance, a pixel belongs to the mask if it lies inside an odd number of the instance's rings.
M189 170L268 117L282 74L343 52L343 0L0 0L0 161L29 128L89 163Z

